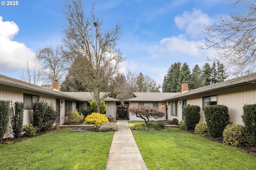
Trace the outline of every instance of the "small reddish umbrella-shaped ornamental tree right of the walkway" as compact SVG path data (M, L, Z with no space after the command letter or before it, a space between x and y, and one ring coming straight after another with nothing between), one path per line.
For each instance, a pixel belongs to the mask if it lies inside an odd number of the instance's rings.
M164 112L149 106L134 106L130 108L130 112L132 115L142 118L145 121L145 126L147 126L150 117L158 119L165 115Z

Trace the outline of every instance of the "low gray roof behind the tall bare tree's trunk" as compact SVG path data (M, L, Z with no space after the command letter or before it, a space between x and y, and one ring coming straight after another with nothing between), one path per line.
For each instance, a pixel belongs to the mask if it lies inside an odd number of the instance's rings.
M71 95L71 96L76 96L78 98L83 99L84 101L94 100L94 98L92 97L92 94L90 92L62 92L62 93L68 94L68 95ZM100 92L100 98L104 97L107 94L108 93L106 93L106 92ZM110 98L110 97L104 98L103 101L105 101L105 102L120 102L120 100Z

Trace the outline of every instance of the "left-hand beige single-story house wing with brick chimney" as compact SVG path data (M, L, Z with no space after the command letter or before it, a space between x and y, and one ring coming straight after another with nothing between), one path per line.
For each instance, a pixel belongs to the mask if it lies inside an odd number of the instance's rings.
M68 92L60 92L59 89L58 82L53 82L52 89L49 89L0 74L0 100L10 100L13 103L17 101L25 102L24 125L33 121L32 106L34 101L53 102L58 108L56 123L63 124L67 122L67 113L71 108L86 107L87 102L93 100L92 96L89 96L90 93L69 94ZM114 117L116 115L114 107L119 100L113 98L105 98L104 100L107 105L106 114ZM4 138L9 136L9 126L11 126L10 120Z

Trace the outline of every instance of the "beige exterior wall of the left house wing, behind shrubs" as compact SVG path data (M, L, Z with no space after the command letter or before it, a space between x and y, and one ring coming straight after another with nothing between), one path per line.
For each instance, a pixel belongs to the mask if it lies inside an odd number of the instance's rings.
M60 98L58 96L52 96L48 94L42 94L39 92L33 92L30 90L23 90L19 88L14 88L10 86L4 86L0 85L0 100L10 100L14 104L15 102L23 102L23 94L31 94L31 95L36 95L39 96L39 100L44 100L50 104L52 101L54 103L54 106L56 105L56 99L60 99L60 101L63 101L62 104L60 104L60 124L66 123L68 117L65 116L65 100L70 100L70 99L65 99L65 98ZM75 109L76 108L76 101L72 101L72 106ZM23 118L23 125L27 125L33 121L33 115L32 115L33 110L32 109L24 109L24 118ZM4 138L7 138L9 135L9 126L11 126L11 122L9 119L9 123L7 125L7 130L4 135Z

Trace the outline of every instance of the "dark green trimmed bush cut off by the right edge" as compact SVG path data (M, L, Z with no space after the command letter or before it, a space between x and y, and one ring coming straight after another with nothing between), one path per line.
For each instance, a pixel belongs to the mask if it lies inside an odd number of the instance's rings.
M256 147L256 104L244 105L243 110L244 135L250 145Z

